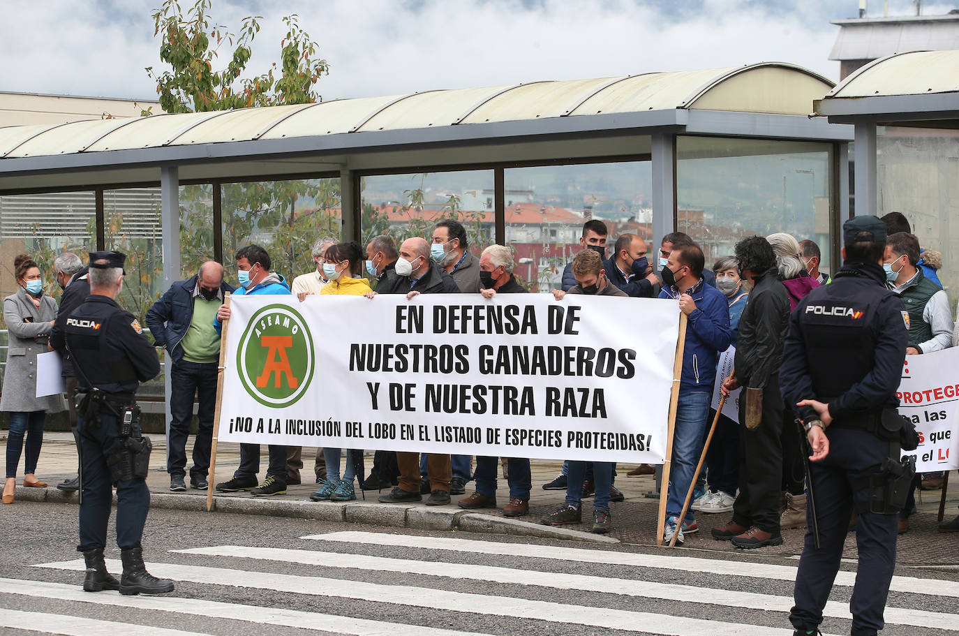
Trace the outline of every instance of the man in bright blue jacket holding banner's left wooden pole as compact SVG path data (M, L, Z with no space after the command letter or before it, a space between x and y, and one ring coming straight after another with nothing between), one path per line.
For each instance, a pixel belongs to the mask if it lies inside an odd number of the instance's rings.
M278 273L269 271L270 261L267 250L258 245L241 247L237 251L237 278L240 287L234 294L290 294L286 279ZM213 326L221 333L222 321L230 318L230 308L222 305L217 311ZM267 479L256 485L256 474L260 472L260 445L240 444L240 467L233 473L229 482L217 484L220 492L239 492L249 490L254 497L270 497L287 493L287 447L269 444L269 467Z

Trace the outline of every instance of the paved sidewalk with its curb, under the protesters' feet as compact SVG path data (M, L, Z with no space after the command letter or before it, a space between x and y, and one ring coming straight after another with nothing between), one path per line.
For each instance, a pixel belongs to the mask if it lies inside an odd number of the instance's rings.
M205 511L205 491L170 492L170 478L166 473L166 440L163 436L151 435L150 437L153 442L153 452L150 462L151 471L147 483L153 493L152 506L193 509L197 510L198 513ZM6 434L4 432L0 434L0 440L5 441L5 439ZM193 436L190 437L190 444L187 448L188 458L190 457L192 442ZM473 483L467 483L466 495L453 497L453 502L449 506L379 504L377 497L380 493L375 490L366 492L365 499L358 490L358 500L356 502L311 502L309 501L310 493L316 489L316 483L313 483L313 457L314 453L311 450L304 449L303 458L306 465L301 472L307 482L289 486L286 495L256 498L246 492L215 493L215 510L346 521L419 530L499 532L517 536L564 538L597 543L618 543L621 541L655 545L656 542L659 500L646 496L655 488L655 483L652 477L627 479L625 475L634 467L632 464L620 464L618 467L619 476L616 480L616 486L620 488L626 499L624 502L612 504L613 528L608 537L603 537L589 532L593 521L592 499L583 500L582 518L584 524L550 528L539 523L540 517L564 501L565 491L543 490L542 488L543 483L550 482L559 473L562 465L561 461L534 459L531 462L533 489L529 502L529 516L516 520L504 518L499 510L466 511L456 506L456 501L473 492ZM263 471L266 470L266 460L266 449L263 449L263 462L261 464ZM239 463L239 444L219 444L216 482L230 479ZM372 458L366 458L365 463L365 473L368 473ZM45 489L38 489L24 488L18 485L17 499L76 503L76 494L64 497L55 487L63 479L75 474L76 465L77 454L73 436L68 433L45 434L36 476L38 479L49 483L50 486ZM959 509L957 509L957 506L959 506L959 477L953 474L952 478L947 492L945 516L947 520L959 514ZM22 479L22 473L18 473L17 483L21 483L20 479ZM499 480L498 485L497 499L500 506L503 506L509 499L509 493L504 480ZM920 494L917 495L919 509L910 519L910 530L901 535L899 539L898 562L900 565L959 567L959 533L936 531L940 496L941 491L920 491ZM729 513L698 513L696 520L701 530L687 536L685 548L737 552L737 549L729 543L714 541L709 532L713 526L726 523L729 516ZM762 554L781 556L799 554L802 552L804 532L803 529L784 530L784 545L763 549L761 552ZM846 541L844 556L853 559L856 557L854 533L850 534Z

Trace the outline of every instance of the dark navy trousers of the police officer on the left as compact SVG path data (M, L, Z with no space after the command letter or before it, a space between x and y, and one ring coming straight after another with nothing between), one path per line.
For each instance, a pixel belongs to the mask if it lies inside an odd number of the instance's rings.
M113 484L106 458L120 451L119 422L107 412L100 415L100 426L77 420L82 447L83 503L80 505L80 545L78 552L106 547L106 525L113 502ZM121 550L139 548L143 526L150 510L150 490L146 480L133 478L117 483L117 546Z

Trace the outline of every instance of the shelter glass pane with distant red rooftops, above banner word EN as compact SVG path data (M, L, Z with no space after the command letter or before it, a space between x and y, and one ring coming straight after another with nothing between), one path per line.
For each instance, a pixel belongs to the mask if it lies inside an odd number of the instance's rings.
M433 238L433 225L452 219L466 228L475 255L495 240L493 171L468 170L363 177L363 243L386 234L399 247L414 236Z

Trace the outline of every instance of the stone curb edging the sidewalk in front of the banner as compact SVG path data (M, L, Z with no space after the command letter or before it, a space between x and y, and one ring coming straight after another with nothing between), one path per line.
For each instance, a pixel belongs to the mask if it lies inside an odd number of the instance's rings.
M54 487L26 488L17 486L16 499L27 502L51 504L76 504L75 493L64 493ZM116 506L116 495L113 496ZM206 511L206 497L177 495L162 492L150 493L150 505L168 510ZM369 524L386 528L409 528L410 530L447 530L459 532L491 532L511 536L531 536L543 539L563 539L598 544L617 544L620 539L581 530L554 528L542 524L509 519L458 507L404 506L400 504L334 503L290 501L281 499L255 499L253 497L213 497L211 511L234 514L259 514L292 519L316 519L339 523Z

